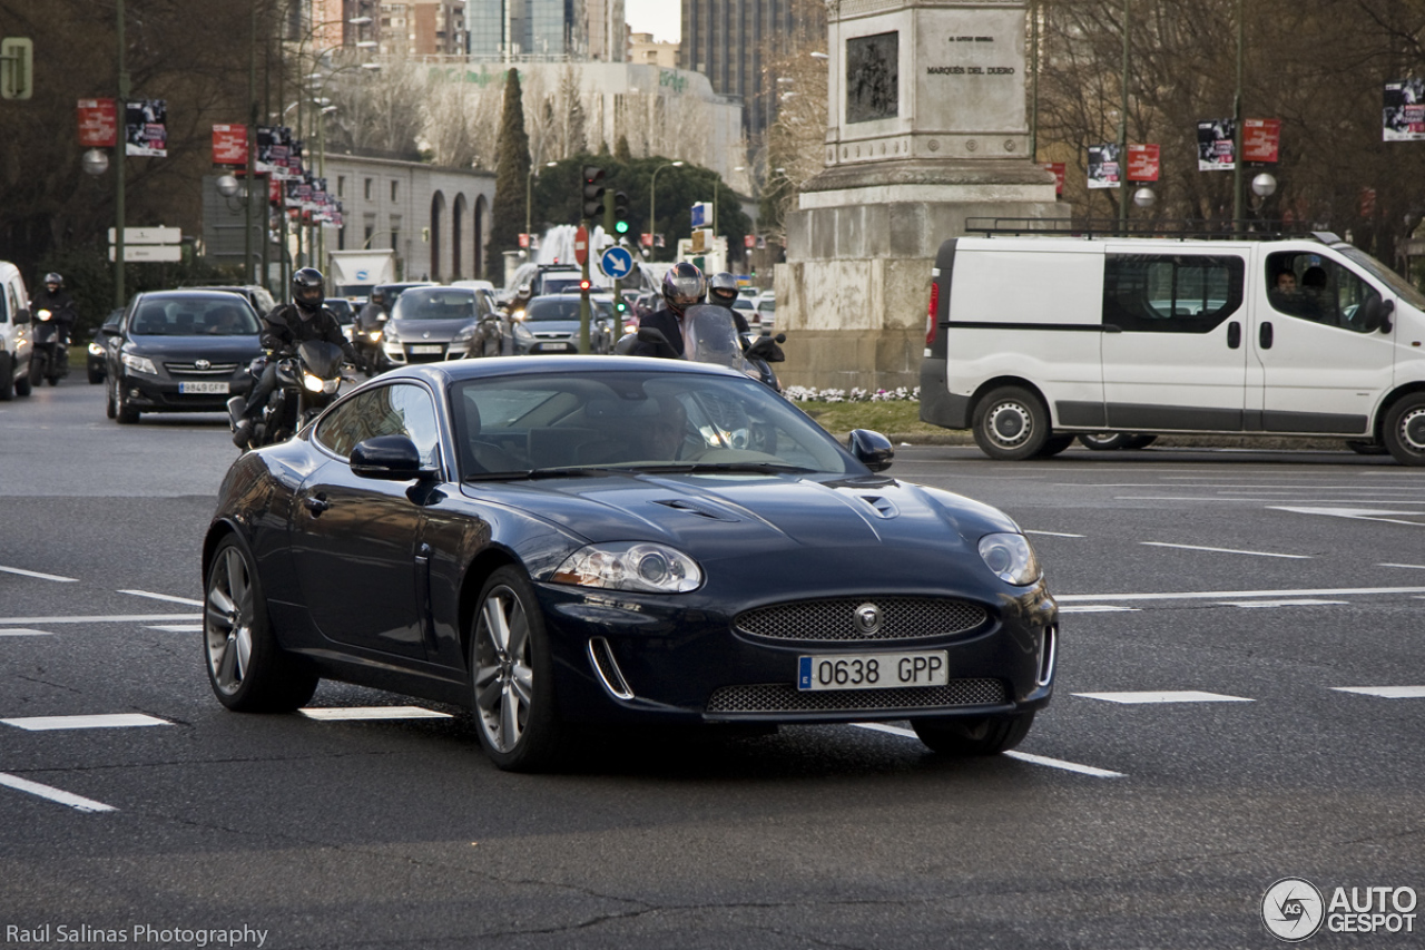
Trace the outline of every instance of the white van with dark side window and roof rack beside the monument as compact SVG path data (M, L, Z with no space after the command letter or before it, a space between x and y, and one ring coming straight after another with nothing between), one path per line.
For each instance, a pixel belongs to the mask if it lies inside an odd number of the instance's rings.
M932 280L921 418L990 458L1174 432L1425 465L1425 295L1335 235L963 237Z

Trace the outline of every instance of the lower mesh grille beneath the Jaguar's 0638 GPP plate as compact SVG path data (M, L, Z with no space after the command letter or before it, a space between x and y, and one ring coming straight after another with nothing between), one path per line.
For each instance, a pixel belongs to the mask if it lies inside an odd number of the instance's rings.
M1003 680L952 679L945 686L905 689L804 690L789 683L724 686L708 699L708 713L819 713L999 706L1009 702Z

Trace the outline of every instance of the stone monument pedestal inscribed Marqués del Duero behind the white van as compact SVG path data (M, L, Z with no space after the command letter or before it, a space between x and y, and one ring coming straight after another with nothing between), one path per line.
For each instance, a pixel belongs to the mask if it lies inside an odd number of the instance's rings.
M775 271L784 384L919 385L940 242L1060 217L1027 154L1025 27L1022 0L828 0L826 168Z

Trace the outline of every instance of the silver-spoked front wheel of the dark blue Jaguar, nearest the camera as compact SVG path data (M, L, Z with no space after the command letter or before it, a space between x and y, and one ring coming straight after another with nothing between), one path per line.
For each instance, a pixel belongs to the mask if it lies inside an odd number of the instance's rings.
M470 709L480 745L506 772L540 772L560 753L553 660L524 573L504 566L480 591L470 636Z

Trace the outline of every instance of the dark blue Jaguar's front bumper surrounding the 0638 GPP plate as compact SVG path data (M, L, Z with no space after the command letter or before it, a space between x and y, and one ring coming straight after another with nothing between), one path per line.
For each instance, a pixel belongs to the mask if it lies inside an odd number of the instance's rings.
M1039 709L1053 692L1057 609L1043 585L985 608L959 633L785 640L741 629L695 595L646 596L537 585L560 713L624 722L831 723ZM882 595L868 595L876 599ZM688 599L684 599L688 598ZM748 606L740 605L745 616ZM945 650L949 683L797 689L801 656Z

